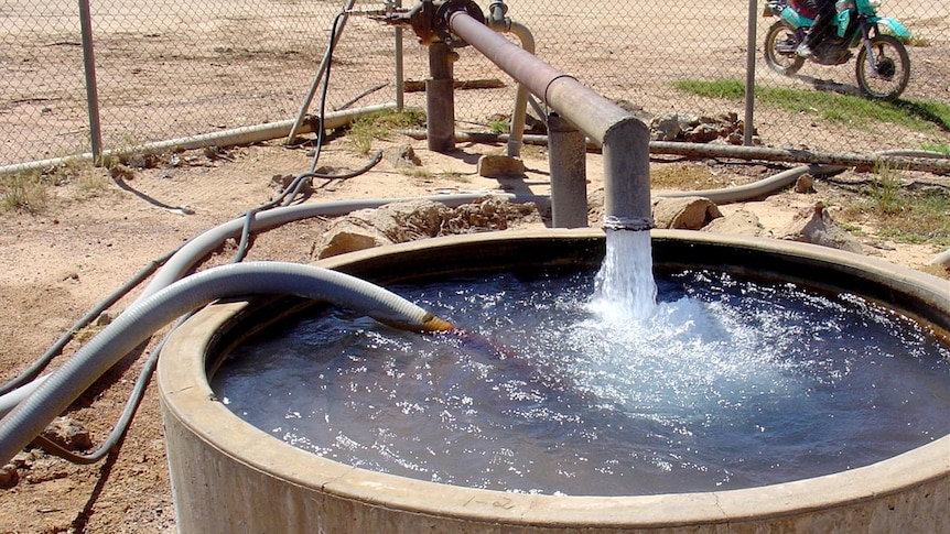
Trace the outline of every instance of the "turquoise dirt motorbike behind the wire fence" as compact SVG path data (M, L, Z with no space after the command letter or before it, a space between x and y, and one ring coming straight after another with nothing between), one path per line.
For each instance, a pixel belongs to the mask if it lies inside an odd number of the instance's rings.
M910 31L896 19L878 17L881 0L840 0L829 36L812 46L809 58L821 65L844 65L857 48L855 75L870 98L894 100L910 80L910 56L902 40ZM765 17L778 17L765 35L765 62L776 73L791 76L806 58L796 53L817 12L800 0L768 0Z

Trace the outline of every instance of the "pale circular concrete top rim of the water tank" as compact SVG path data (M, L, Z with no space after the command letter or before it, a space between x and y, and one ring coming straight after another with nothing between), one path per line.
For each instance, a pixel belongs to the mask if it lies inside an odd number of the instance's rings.
M654 240L724 243L768 250L842 270L871 272L896 281L904 291L930 299L950 316L950 283L873 258L803 243L760 238L654 230ZM371 249L324 261L338 268L406 250L490 244L519 239L603 239L600 230L541 230L438 238ZM367 471L288 445L233 414L208 385L207 348L246 303L218 304L201 312L169 340L159 364L158 384L171 415L210 447L235 461L288 483L387 509L499 525L659 527L755 521L846 506L950 478L950 436L876 462L828 476L757 488L633 497L571 497L507 493L446 486Z

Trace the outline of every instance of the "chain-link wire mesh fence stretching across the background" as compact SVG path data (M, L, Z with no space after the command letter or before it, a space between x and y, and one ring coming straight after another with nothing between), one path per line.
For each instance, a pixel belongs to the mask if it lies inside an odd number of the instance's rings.
M89 9L94 54L86 63L84 2ZM93 150L89 124L95 109L88 103L85 83L89 66L95 68L105 149L292 120L326 51L334 18L347 3L4 0L0 6L0 165ZM478 3L487 13L488 0ZM644 116L743 117L741 99L699 97L673 84L744 81L748 2L505 3L508 17L531 30L541 59L607 98L628 102ZM757 87L856 89L853 62L836 67L807 64L794 77L768 70L763 37L776 19L762 17L764 3L757 0L753 4ZM411 7L408 0L403 4ZM385 6L356 1L354 8L381 10ZM914 33L908 43L911 78L900 102L950 101L950 2L885 0L881 12L899 19ZM333 56L328 109L393 101L395 33L392 26L373 18L349 17ZM424 96L415 88L429 75L428 50L407 30L401 53L406 105L422 108ZM510 113L515 84L474 48L458 53L456 79L483 88L456 92L457 127L487 130L493 121ZM871 145L852 146L846 123L762 103L756 105L755 113L762 142L778 148L871 152L946 143L948 139L939 124L932 132L920 133L920 139L900 139L882 128L877 134L865 132Z

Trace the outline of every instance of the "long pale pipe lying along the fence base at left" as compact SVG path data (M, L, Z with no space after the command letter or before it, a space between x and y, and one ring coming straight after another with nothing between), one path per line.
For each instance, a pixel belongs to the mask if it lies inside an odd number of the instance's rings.
M396 102L380 103L376 106L367 106L358 109L347 109L326 113L324 118L324 128L332 130L353 122L359 117L396 109ZM106 150L102 152L104 157L121 156L126 154L136 154L142 152L162 152L165 150L194 150L205 146L234 146L239 144L252 144L261 141L270 141L272 139L285 138L288 132L293 127L294 120L283 120L279 122L268 122L266 124L257 124L250 127L235 128L231 130L223 130L219 132L203 133L199 135L188 135L186 138L170 139L158 141L154 143L145 143L136 146L123 149ZM315 119L305 121L300 129L301 133L307 133L315 130L317 121ZM40 160L34 162L18 163L0 167L0 175L17 174L30 171L42 171L55 165L78 161L91 160L91 153L76 154L64 157L53 157L50 160Z

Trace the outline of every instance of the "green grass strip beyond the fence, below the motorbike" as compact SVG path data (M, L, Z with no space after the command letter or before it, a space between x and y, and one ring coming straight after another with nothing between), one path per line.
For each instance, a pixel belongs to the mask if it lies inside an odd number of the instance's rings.
M745 85L736 79L680 80L672 86L682 92L708 98L742 101L745 97ZM914 131L929 131L935 127L950 131L950 103L944 102L899 99L883 102L830 91L759 86L755 88L755 99L757 103L861 129L888 122Z

